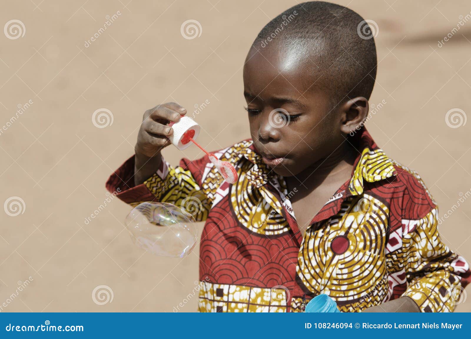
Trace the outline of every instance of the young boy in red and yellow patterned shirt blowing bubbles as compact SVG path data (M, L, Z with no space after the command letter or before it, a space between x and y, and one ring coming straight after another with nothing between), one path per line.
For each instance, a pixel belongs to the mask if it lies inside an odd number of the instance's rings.
M262 29L244 65L252 139L215 152L234 184L207 156L162 159L185 108L144 114L135 156L106 187L133 206L199 202L201 312L299 312L320 293L342 312L451 312L470 282L420 176L363 126L377 61L362 22L313 1Z

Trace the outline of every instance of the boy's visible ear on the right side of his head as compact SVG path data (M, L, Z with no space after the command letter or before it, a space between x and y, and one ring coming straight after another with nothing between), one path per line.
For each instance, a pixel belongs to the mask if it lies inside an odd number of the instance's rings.
M365 97L356 97L341 107L341 132L349 134L359 130L368 116L369 104Z

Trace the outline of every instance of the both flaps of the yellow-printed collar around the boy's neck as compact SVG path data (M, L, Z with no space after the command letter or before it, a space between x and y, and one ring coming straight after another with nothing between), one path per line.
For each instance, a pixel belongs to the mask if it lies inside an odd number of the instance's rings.
M359 153L348 185L351 195L363 194L365 182L377 182L397 175L392 160L378 148L365 126L347 140ZM254 186L260 188L277 174L262 161L251 139L243 142L245 147L241 150L239 159L244 157L253 164L247 172L247 177Z

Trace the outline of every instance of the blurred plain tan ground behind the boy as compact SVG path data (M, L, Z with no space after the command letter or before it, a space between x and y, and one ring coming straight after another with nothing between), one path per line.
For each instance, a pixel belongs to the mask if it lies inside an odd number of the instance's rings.
M471 4L333 2L377 24L376 113L366 126L390 157L421 174L443 216L471 189ZM110 200L105 181L133 154L142 114L156 104L175 101L191 114L209 102L196 117L207 149L250 137L244 58L268 20L294 4L2 1L1 27L16 20L9 26L19 32L7 25L0 33L0 128L9 123L0 130L0 305L9 299L1 311L172 312L194 293L198 248L180 260L135 247L123 226L130 207L117 198L85 219ZM201 28L185 39L180 27L190 19ZM93 121L103 108L110 120ZM177 164L202 153L169 147L164 156ZM470 261L471 201L459 204L440 232ZM105 305L92 298L100 285L113 291ZM197 297L188 299L180 311L196 311ZM471 311L471 300L457 311Z

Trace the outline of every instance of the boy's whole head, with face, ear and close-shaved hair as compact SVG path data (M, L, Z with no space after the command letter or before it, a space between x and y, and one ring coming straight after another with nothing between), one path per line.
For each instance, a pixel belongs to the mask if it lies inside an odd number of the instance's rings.
M254 147L277 174L307 180L328 158L352 161L357 151L346 138L368 114L376 76L363 24L346 7L305 2L254 41L244 64L246 109Z

